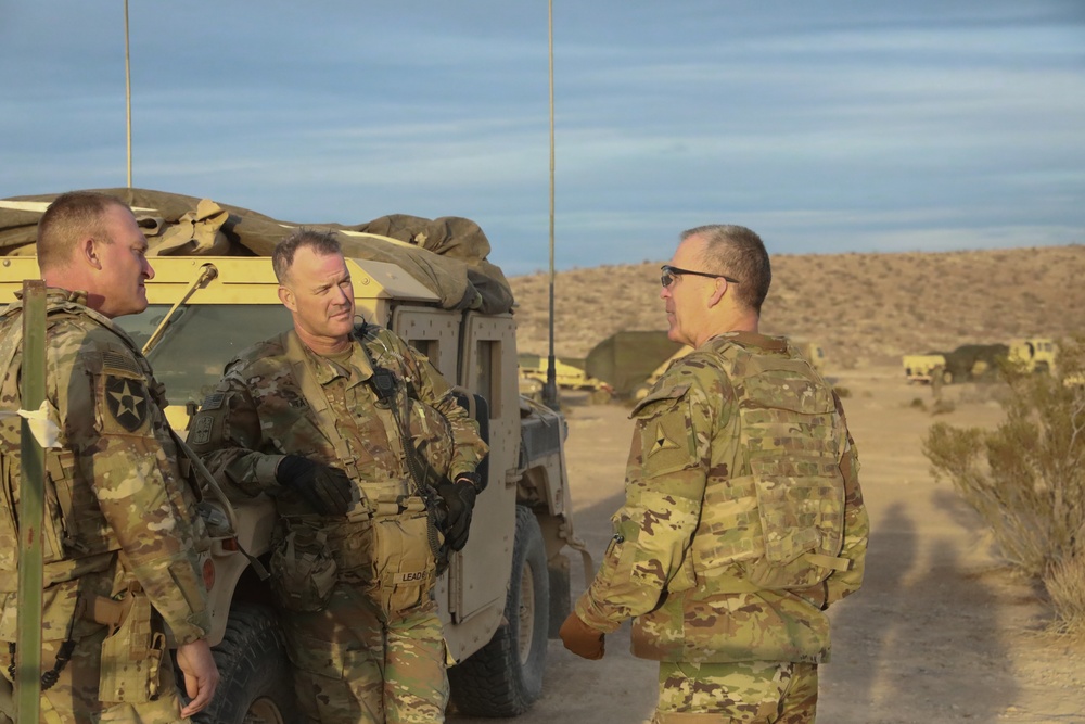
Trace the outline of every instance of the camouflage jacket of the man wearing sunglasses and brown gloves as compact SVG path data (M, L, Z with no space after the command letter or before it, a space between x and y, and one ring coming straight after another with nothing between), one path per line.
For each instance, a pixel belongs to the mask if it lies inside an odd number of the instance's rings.
M756 416L739 405L758 384L780 409L820 414L812 427L778 418L765 428L776 424L774 434L751 437L743 420L754 427ZM768 418L779 411L771 407ZM635 619L634 653L642 658L827 661L824 609L861 584L869 529L858 457L830 385L782 338L735 332L676 360L633 417L626 503L577 614L604 632ZM806 490L817 493L799 497L829 511L822 518L839 535L826 559L847 570L808 587L753 583L751 566L779 543L761 523L771 494L754 484L766 460L784 480L815 481Z

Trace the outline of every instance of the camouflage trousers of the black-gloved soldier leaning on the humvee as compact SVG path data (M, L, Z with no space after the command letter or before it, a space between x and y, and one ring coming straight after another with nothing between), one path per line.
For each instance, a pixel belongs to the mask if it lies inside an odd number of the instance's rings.
M340 583L322 611L282 620L308 722L445 721L448 674L435 601L387 620L359 588Z

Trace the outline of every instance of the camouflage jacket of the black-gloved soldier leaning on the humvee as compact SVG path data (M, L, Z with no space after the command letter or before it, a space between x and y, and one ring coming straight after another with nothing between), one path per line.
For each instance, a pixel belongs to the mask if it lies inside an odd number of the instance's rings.
M275 486L275 470L284 455L345 470L359 485L359 503L363 488L375 484L395 484L400 494L409 493L400 424L409 427L411 441L438 473L455 479L474 471L486 444L448 382L424 355L386 329L367 325L362 340L365 347L355 341L343 367L309 351L293 330L250 347L227 365L193 419L188 441L229 494L253 497ZM368 383L371 360L396 376L399 421ZM298 364L308 365L321 386L308 397L322 399L307 398ZM322 432L316 408L326 404L345 450ZM278 505L285 516L309 512L290 493L280 494Z

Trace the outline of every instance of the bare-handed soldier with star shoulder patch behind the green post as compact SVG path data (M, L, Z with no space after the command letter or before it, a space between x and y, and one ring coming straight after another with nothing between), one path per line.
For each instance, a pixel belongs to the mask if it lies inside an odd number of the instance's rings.
M218 670L204 638L210 627L200 559L208 546L204 524L179 472L178 448L159 409L162 389L111 321L146 308L143 282L154 276L146 240L116 199L74 192L42 215L37 251L49 287L46 402L60 431L58 446L46 453L42 721L177 722L207 706ZM21 312L16 302L0 316L7 411L21 407ZM0 670L9 678L20 653L17 419L0 423ZM124 621L141 621L141 631L122 625L107 638L128 604ZM163 621L179 645L177 661L192 697L183 709L161 638ZM103 653L103 642L113 651L114 640L124 642L122 660ZM137 644L146 648L137 652ZM102 682L117 682L124 672L144 677L139 686L131 679L100 686L100 673Z

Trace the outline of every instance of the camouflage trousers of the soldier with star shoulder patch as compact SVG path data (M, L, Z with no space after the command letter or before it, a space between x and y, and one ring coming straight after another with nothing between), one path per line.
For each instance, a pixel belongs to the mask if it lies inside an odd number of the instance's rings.
M164 660L159 670L158 698L146 703L103 703L99 701L98 677L101 669L102 642L105 627L93 624L98 631L78 638L72 660L64 666L60 678L41 694L41 717L44 724L177 724L190 722L181 719L181 703L174 679L174 669ZM43 642L41 671L53 668L62 642ZM16 653L16 658L17 653ZM0 669L10 678L8 665L11 656L7 642L0 642ZM14 719L14 717L13 717ZM0 722L3 721L0 715ZM20 719L22 721L22 717Z

